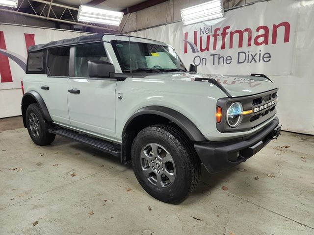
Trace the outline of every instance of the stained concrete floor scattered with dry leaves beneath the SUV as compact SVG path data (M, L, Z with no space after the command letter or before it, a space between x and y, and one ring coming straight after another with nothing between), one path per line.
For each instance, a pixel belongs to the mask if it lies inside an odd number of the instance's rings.
M131 166L119 159L61 137L40 147L24 128L0 129L0 235L141 235L144 230L311 235L313 150L313 136L283 132L233 169L210 175L203 168L197 190L181 205L169 205L150 197Z

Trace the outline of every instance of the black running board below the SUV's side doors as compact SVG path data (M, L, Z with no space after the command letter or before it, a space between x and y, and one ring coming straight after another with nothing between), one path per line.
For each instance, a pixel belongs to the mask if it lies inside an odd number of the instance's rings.
M121 157L121 145L120 144L112 143L112 142L105 141L102 139L97 139L91 136L87 136L86 134L80 134L76 131L72 131L66 128L62 128L62 127L49 129L49 132L59 135L59 136L70 138L72 140L86 144L93 148L97 148L106 153L110 153L116 157Z

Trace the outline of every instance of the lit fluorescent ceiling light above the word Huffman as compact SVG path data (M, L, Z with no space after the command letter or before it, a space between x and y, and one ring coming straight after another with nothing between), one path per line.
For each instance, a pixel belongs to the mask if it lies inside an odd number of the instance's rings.
M183 25L209 21L224 16L222 0L211 0L203 4L181 9Z

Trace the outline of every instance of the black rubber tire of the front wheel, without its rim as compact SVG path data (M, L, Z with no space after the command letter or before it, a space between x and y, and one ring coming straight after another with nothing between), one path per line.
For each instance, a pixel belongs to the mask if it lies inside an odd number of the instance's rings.
M158 188L145 176L141 165L141 152L149 143L157 143L171 154L175 164L174 182L166 188ZM131 160L139 184L157 200L178 204L196 187L201 175L201 162L192 142L178 128L158 124L141 130L132 143Z

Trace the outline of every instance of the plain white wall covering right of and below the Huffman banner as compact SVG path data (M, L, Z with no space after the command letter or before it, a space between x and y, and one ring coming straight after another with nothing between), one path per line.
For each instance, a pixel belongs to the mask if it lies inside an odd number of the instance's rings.
M279 11L280 13L280 11ZM270 76L279 91L278 116L283 129L314 134L314 0L300 1L293 72Z

